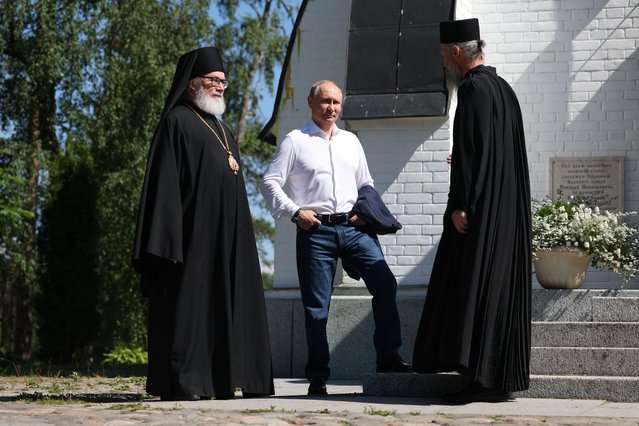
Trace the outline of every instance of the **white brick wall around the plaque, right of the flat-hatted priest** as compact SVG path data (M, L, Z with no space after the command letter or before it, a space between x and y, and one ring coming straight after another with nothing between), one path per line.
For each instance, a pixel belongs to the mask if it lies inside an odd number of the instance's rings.
M472 14L519 97L533 197L549 193L549 158L623 156L625 209L638 211L639 0L473 0ZM585 287L618 285L591 270Z

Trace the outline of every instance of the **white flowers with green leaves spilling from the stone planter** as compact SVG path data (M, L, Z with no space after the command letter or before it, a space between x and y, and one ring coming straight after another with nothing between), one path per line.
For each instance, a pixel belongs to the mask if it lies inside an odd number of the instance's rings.
M639 273L639 227L625 223L636 212L601 212L584 200L533 201L533 258L554 247L582 249L591 265L610 270L628 282Z

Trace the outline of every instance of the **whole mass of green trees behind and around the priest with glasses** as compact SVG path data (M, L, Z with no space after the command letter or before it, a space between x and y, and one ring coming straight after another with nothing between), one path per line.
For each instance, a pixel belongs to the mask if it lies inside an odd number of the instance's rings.
M211 44L224 52L224 118L257 205L273 149L257 141L253 112L284 57L292 3L217 1L219 22L209 0L0 3L0 125L10 133L0 146L0 353L28 357L31 318L51 360L146 346L131 244L177 58ZM272 224L255 229L264 257Z

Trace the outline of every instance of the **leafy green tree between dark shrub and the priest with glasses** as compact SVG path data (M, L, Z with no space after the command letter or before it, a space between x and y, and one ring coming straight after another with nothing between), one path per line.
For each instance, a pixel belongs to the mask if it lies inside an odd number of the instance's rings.
M97 351L145 347L146 302L131 250L146 156L177 58L210 43L208 1L121 0L102 11L99 84L87 129L100 182Z

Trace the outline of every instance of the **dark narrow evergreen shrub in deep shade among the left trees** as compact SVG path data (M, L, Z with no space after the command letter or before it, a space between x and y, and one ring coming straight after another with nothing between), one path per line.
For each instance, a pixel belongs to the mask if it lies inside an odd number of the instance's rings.
M35 298L40 354L54 362L88 361L99 324L98 181L81 145L59 153L49 173Z

